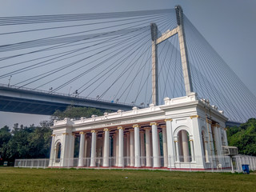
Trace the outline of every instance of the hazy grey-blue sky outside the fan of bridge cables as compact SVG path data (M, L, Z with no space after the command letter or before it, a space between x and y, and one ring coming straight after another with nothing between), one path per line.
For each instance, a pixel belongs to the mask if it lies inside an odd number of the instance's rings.
M256 94L256 1L254 0L1 0L0 17L156 10L181 5L214 50ZM1 83L1 82L0 82ZM38 124L48 116L0 112L0 127Z

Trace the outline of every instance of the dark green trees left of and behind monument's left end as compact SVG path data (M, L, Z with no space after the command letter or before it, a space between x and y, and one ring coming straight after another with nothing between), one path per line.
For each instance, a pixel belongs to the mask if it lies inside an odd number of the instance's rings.
M102 110L69 106L65 111L56 110L53 119L90 118L92 114L102 115ZM14 162L15 158L49 158L53 121L41 122L40 126L8 126L0 129L0 156L3 161ZM78 157L79 138L75 139L74 157Z

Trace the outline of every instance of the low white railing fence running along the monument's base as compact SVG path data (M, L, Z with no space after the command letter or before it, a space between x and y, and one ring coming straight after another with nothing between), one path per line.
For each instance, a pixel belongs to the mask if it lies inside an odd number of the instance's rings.
M103 166L103 158L95 158L95 166L90 166L90 158L82 159L82 166L78 166L79 158L69 158L69 159L55 159L51 161L49 158L44 159L16 159L14 162L14 167L30 167L30 168L98 168L98 169L166 169L166 170L184 170L184 171L212 171L212 172L238 172L241 173L242 165L249 165L250 170L256 170L256 157L237 155L232 158L228 156L214 156L208 157L209 162L205 162L205 157L194 157L192 158L177 158L169 157L168 162L170 162L170 167L164 164L164 157L157 157L159 165L154 166L155 157L140 157L140 165L136 167L136 158L130 159L130 157L123 158L122 166L118 164L118 158L110 157L108 159L108 166ZM188 162L182 162L179 160L188 159ZM132 160L132 161L130 161ZM148 162L146 162L148 160ZM198 162L203 162L204 167L198 167ZM167 163L166 163L167 164ZM64 166L62 166L64 165ZM80 160L81 165L81 160ZM168 164L167 164L168 165Z

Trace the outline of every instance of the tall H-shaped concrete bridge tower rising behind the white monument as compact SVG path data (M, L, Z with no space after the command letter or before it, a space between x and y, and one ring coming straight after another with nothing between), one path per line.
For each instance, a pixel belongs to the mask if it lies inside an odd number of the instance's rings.
M155 23L150 24L152 39L152 102L158 106L158 44L166 39L178 34L178 42L182 59L182 71L186 90L186 96L193 92L193 86L190 74L190 65L186 49L186 38L183 24L183 11L181 6L175 6L177 27L174 30L166 31L158 38L158 26Z

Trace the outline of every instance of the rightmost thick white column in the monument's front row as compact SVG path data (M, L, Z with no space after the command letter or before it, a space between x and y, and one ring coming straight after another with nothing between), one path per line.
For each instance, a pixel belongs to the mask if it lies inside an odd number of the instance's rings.
M152 126L152 146L153 146L153 167L160 167L159 162L159 148L158 148L158 124L156 122L151 122Z

